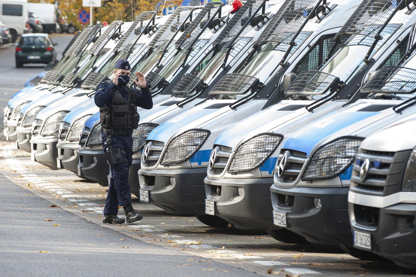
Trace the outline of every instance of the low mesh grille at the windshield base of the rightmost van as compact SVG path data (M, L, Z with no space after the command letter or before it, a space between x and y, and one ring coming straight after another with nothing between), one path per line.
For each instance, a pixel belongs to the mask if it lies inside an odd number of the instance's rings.
M362 93L413 93L416 91L416 69L387 66L363 86Z

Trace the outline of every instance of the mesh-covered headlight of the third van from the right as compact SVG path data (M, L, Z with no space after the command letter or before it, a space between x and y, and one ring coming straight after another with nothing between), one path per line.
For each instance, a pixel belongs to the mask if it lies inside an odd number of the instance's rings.
M276 150L283 135L261 133L240 144L233 155L228 173L250 171L260 166Z

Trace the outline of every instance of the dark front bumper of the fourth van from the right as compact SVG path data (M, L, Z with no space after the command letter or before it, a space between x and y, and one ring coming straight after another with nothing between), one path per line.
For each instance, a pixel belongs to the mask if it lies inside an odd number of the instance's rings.
M205 186L207 167L157 169L139 172L140 187L150 190L149 200L170 214L205 215ZM142 185L146 180L146 185Z

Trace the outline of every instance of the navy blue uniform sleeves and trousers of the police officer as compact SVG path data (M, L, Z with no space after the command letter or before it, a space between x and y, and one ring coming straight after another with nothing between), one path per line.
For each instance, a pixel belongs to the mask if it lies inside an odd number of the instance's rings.
M114 83L107 84L102 82L97 86L94 95L95 104L100 108L108 108L111 106L112 96L115 91L119 90L125 99L128 99L128 91L126 87L119 87ZM132 103L143 109L152 109L153 101L148 87L141 88L141 92L132 90ZM106 134L102 134L103 148L107 148ZM131 204L130 185L128 183L129 167L132 163L133 139L131 135L123 136L112 134L111 144L113 149L120 148L125 153L125 159L122 162L111 166L111 181L108 186L107 199L105 200L104 214L117 215L118 207Z

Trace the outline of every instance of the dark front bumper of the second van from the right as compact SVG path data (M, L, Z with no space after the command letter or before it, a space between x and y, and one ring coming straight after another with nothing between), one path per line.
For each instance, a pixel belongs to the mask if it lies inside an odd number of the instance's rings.
M274 213L285 215L286 228L308 241L352 246L348 187L282 189L271 186Z

